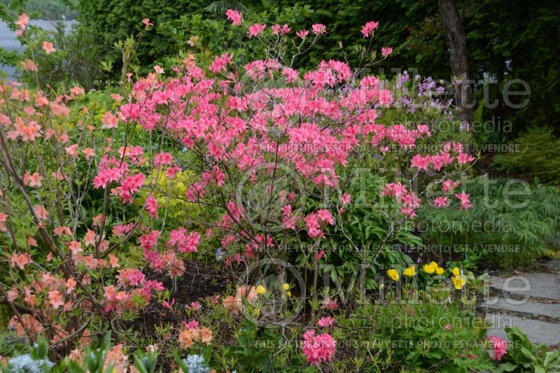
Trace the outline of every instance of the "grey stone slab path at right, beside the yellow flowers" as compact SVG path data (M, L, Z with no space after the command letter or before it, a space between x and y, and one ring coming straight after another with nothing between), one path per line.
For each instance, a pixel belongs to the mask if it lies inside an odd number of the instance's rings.
M491 295L478 307L492 325L488 335L506 338L505 328L517 325L533 343L560 345L560 260L542 269L489 281Z

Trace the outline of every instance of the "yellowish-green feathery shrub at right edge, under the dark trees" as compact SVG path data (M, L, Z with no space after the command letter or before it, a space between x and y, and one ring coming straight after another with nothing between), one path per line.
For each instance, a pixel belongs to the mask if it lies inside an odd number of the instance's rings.
M519 149L494 157L498 169L535 178L537 183L560 185L560 139L552 128L532 127L512 143Z

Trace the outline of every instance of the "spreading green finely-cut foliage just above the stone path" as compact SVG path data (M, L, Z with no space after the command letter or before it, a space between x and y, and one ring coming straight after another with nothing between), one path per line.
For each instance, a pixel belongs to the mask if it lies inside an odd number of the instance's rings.
M486 258L503 267L530 265L547 251L547 238L558 229L560 196L550 186L530 186L486 176L468 184L472 207L459 211L425 209L417 227L428 244L472 259ZM474 258L473 258L474 257Z

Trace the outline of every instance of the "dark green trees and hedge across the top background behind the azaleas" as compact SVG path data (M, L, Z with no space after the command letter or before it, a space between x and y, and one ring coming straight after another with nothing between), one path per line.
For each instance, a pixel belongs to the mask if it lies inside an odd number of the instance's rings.
M321 39L318 48L297 59L296 67L308 68L322 59L342 58L356 67L366 43L361 38L360 27L375 20L379 29L374 42L379 48L391 46L394 51L385 62L375 65L372 73L391 75L398 69L408 69L411 73L451 80L454 69L450 55L457 47L446 34L442 17L441 5L447 3L454 6L456 19L461 23L466 47L463 69L474 82L470 85L472 97L479 102L471 118L507 119L513 123L511 133L496 134L496 138L486 140L504 141L534 125L549 125L556 133L560 132L557 99L560 95L560 1L557 0L72 1L12 0L29 8L38 6L43 12L52 6L59 9L57 14L67 17L77 11L82 34L96 44L95 55L84 60L97 66L88 66L87 71L99 71L101 76L99 63L111 62L109 77L115 79L122 76L123 55L119 48L114 48L115 43L139 36L144 31L141 22L144 17L149 17L154 27L142 35L129 61L130 66L139 67L139 73L146 73L156 63L171 66L177 62L176 55L187 52L194 52L199 59L211 59L228 50L234 52L238 63L264 57L247 43L246 35L239 28L225 20L225 10L235 8L244 13L248 23L269 26L288 23L293 31L309 28L314 23L327 25L327 36ZM69 13L64 13L65 9ZM448 29L456 19L451 17ZM531 101L522 108L514 108L503 99L503 91L526 90L519 80L528 84ZM484 92L487 105L481 104ZM520 104L526 98L514 97L513 104Z

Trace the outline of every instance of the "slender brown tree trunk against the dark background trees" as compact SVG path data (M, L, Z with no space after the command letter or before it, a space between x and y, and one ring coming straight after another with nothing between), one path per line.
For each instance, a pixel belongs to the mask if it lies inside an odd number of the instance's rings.
M465 0L466 1L466 0ZM461 122L472 125L471 87L468 83L467 42L461 20L455 10L454 0L437 0L449 43L449 57L453 75L460 79L456 85L455 100L458 108L458 118ZM472 126L471 126L472 127Z

